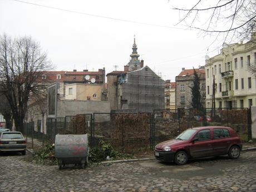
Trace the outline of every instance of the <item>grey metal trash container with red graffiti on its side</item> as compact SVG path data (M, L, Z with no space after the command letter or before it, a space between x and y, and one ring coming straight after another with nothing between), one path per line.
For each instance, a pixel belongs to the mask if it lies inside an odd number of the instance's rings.
M88 164L88 135L56 135L55 157L58 168L62 169L66 164L80 164L84 169Z

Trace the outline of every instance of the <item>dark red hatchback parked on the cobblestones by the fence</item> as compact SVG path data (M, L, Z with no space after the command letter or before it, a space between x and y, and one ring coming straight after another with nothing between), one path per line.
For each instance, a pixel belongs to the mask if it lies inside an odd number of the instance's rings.
M231 159L237 159L242 147L232 128L206 126L188 129L175 139L161 142L154 152L157 160L185 165L189 159L198 157L229 155Z

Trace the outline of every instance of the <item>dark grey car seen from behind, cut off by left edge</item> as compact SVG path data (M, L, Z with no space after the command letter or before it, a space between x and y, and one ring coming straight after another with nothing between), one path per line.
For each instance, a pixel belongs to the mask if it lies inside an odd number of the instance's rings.
M21 132L5 131L0 132L0 152L17 151L26 155L27 142Z

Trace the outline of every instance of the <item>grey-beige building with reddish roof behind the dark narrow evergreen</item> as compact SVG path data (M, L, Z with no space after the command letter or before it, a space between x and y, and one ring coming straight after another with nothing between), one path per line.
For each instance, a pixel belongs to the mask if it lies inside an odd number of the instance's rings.
M204 67L195 68L200 81L200 92L202 104L205 99L205 70ZM176 109L190 109L191 105L191 86L193 86L194 69L182 69L180 74L175 77L176 81Z

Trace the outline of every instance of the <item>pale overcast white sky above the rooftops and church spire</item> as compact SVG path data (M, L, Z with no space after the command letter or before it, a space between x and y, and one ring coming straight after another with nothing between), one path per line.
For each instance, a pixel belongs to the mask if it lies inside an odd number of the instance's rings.
M176 26L174 2L184 7L193 1L0 0L0 34L31 36L47 51L56 71L105 67L106 73L114 66L124 70L135 35L144 65L175 81L182 67L205 65L205 55L218 54L223 42Z

